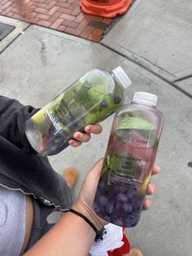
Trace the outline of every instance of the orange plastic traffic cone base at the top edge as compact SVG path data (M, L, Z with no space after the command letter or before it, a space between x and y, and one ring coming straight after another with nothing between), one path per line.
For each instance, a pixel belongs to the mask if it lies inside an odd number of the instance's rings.
M85 13L114 18L124 14L131 2L132 0L80 0L80 6Z

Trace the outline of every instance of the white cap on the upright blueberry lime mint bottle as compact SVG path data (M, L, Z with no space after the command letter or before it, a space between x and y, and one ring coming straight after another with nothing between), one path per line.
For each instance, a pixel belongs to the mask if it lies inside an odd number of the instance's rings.
M133 95L133 102L137 104L146 104L156 106L157 96L148 92L137 91Z

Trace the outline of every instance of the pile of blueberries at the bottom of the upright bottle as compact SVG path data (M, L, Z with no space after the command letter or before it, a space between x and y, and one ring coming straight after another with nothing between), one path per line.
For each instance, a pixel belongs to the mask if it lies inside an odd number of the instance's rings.
M98 183L95 212L101 218L118 226L134 227L141 214L143 197L137 196L138 187L130 183L129 187L107 186L107 179L102 177Z

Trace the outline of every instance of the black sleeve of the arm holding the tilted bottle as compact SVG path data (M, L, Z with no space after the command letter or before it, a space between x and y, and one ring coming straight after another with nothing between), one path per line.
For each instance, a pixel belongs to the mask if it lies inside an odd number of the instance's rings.
M25 123L39 108L24 106L15 99L0 95L0 137L28 153L33 150L25 135Z

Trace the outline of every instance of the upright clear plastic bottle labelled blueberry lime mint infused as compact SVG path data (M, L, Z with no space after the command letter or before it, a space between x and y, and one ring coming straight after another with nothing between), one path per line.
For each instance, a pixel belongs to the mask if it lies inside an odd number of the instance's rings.
M113 121L94 211L118 226L136 226L142 213L164 126L156 101L156 95L136 92Z

